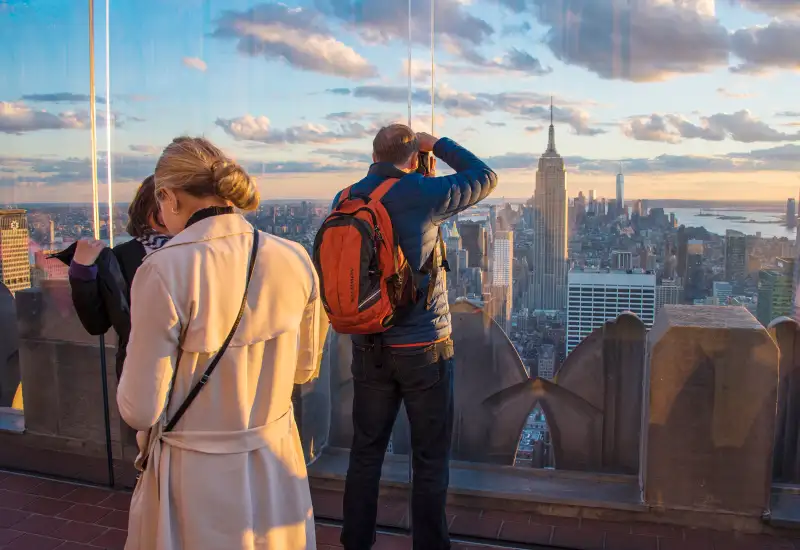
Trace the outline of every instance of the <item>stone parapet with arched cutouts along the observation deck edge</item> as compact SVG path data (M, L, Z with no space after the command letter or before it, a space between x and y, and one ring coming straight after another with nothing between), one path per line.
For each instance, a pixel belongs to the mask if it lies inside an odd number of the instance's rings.
M25 431L0 432L0 467L107 483L98 339L80 326L66 282L18 293L16 316L18 345L7 341L0 351L7 365L18 356ZM790 494L787 484L800 482L800 328L792 320L767 331L743 308L675 306L648 333L623 314L582 342L553 381L530 378L480 309L455 304L453 325L455 499L677 523L714 517L753 531L774 511L776 490ZM109 336L111 448L125 485L135 450L119 438L113 343ZM349 339L331 336L320 377L295 395L312 484L333 491L341 489L352 435L349 358ZM555 471L512 467L537 404L547 415ZM408 482L404 416L385 470L395 488Z

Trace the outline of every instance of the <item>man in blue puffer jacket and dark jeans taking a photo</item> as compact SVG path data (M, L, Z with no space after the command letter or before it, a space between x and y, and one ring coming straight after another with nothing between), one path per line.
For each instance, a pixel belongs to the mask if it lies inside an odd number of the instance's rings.
M419 152L433 152L456 173L426 177L416 172ZM367 176L350 193L368 195L386 179L399 179L383 198L383 205L418 276L420 295L385 333L353 336L353 444L341 541L347 550L366 550L374 543L381 466L404 402L414 471L414 549L443 550L450 548L445 500L453 429L454 349L446 269L431 267L446 267L437 253L439 226L488 197L497 186L497 175L454 141L415 134L402 124L378 132L373 161ZM339 196L341 193L334 205Z

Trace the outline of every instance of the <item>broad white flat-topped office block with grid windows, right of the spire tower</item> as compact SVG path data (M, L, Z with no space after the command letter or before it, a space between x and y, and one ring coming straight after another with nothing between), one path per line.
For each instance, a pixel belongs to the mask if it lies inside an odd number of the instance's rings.
M623 311L650 328L656 315L656 276L613 270L572 270L568 276L567 353Z

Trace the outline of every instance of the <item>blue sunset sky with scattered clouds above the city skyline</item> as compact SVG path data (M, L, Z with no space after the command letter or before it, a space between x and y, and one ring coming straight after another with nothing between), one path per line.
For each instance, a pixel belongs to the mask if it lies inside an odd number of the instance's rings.
M183 134L264 199L327 199L407 121L406 0L108 1L101 200ZM91 199L88 25L85 2L0 0L0 204ZM798 195L800 0L412 0L411 37L412 126L433 95L433 131L498 172L498 198L533 195L551 97L570 196L612 196L619 166L631 199Z

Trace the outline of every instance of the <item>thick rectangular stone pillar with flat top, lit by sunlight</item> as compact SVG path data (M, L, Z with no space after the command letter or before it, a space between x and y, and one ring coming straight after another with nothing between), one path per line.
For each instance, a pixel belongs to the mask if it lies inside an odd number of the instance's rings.
M648 337L641 477L647 504L767 509L778 348L746 309L667 306Z

